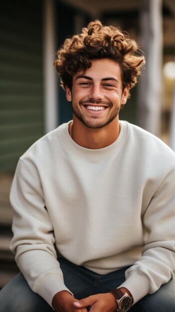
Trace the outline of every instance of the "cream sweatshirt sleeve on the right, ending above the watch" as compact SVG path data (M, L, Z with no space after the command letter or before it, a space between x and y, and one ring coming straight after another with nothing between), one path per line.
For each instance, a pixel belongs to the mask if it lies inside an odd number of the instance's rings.
M126 271L126 287L134 303L155 293L174 278L175 271L175 168L157 188L143 216L147 231L142 257Z

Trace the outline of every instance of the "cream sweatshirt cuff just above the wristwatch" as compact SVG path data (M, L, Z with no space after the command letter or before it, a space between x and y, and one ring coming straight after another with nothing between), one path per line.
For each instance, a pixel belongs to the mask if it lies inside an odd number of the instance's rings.
M125 287L129 290L134 304L150 293L149 280L142 272L126 271L126 278L126 281L120 287Z

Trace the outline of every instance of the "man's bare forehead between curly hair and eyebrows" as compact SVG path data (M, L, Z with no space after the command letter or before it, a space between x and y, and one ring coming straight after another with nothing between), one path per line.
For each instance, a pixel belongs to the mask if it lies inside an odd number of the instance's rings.
M92 60L92 66L84 70L79 70L74 76L73 81L78 76L88 76L93 80L102 80L104 78L115 78L121 82L121 69L117 62L111 59Z

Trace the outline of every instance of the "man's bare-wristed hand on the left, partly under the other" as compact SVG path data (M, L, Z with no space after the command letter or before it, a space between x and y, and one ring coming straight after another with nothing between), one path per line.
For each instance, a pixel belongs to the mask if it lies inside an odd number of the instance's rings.
M52 307L56 312L87 312L86 308L74 307L74 302L79 302L69 292L61 291L58 292L52 300Z

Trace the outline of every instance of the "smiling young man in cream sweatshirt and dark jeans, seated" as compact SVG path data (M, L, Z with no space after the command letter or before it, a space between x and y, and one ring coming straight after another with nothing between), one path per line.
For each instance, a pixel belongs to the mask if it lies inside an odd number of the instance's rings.
M58 51L73 121L20 157L10 199L21 274L0 311L175 311L175 154L119 121L138 51L98 20Z

